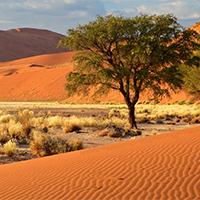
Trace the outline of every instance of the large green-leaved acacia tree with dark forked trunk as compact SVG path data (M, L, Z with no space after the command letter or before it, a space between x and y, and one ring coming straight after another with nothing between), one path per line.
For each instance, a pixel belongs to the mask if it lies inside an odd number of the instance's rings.
M184 30L172 14L97 16L95 21L69 29L59 45L77 51L75 68L67 75L68 95L94 96L118 90L129 110L129 122L137 128L135 105L141 92L154 97L170 95L182 86L178 67L189 65L198 34Z

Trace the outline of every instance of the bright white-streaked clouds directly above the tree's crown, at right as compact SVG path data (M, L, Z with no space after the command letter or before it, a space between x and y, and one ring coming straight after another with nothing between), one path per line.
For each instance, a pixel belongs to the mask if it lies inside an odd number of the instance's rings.
M200 21L200 1L199 0L155 0L155 1L114 1L118 9L107 9L107 14L118 15L123 13L125 16L135 16L140 13L147 14L167 14L173 13L184 26L191 26ZM124 5L126 7L124 8ZM120 8L121 6L121 8Z

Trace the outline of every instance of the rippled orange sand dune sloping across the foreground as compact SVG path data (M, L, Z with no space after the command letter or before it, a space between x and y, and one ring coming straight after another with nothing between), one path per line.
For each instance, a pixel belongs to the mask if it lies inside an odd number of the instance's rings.
M200 127L0 166L0 199L200 199Z

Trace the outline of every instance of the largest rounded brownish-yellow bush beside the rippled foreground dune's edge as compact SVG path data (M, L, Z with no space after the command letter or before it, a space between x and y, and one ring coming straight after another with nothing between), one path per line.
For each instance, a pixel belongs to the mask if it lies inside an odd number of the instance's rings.
M35 134L34 140L30 144L33 154L38 156L48 156L65 153L69 151L69 144L66 139L50 134Z

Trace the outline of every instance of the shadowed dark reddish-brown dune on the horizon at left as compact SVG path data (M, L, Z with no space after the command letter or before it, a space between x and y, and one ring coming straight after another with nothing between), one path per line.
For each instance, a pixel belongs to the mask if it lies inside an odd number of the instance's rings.
M68 51L57 48L65 36L48 30L18 28L0 31L0 37L0 62Z

